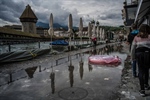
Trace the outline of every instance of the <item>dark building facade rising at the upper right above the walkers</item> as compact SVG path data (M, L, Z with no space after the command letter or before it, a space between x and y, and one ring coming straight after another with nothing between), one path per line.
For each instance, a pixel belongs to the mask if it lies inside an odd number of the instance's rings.
M125 0L123 3L122 19L128 33L133 23L138 27L141 24L150 25L150 0Z

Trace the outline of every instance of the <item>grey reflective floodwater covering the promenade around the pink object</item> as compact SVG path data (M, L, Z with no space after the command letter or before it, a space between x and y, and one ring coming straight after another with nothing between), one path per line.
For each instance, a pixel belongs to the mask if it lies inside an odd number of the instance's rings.
M122 62L91 65L88 57L95 54L117 55ZM5 64L0 100L116 100L126 57L120 44L112 44Z

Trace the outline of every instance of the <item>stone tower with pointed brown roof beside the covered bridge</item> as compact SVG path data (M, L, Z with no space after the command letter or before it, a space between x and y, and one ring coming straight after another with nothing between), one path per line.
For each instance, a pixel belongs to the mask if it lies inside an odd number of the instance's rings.
M27 33L36 33L36 22L38 18L32 11L29 5L26 6L22 15L20 16L20 21L22 23L22 31Z

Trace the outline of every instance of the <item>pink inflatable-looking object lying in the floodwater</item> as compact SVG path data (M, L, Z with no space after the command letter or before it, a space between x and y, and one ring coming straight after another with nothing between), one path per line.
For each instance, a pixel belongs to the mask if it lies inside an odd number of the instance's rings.
M113 55L92 55L88 58L90 64L96 65L119 65L121 59Z

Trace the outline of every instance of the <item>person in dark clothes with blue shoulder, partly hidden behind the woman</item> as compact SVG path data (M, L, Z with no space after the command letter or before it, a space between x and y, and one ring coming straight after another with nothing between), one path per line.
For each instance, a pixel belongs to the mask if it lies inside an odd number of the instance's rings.
M130 45L129 51L131 51L131 46L132 46L132 41L134 39L134 37L139 33L139 30L137 29L137 25L136 24L132 24L131 25L131 33L129 33L128 35L128 44ZM136 60L132 61L132 73L133 73L133 77L137 77L137 67L136 67Z

